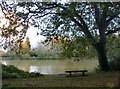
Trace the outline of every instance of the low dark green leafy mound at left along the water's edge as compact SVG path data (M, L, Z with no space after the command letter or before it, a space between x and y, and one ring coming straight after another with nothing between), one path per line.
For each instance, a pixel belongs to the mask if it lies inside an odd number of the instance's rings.
M39 73L29 73L23 70L19 70L17 67L13 65L2 65L2 79L9 78L30 78L30 77L38 77L41 76Z

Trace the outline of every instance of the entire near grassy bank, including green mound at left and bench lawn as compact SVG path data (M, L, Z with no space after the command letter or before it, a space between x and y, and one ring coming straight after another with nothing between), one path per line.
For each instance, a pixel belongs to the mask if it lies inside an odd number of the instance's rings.
M29 73L13 65L2 65L2 86L6 87L117 87L119 72L43 75ZM120 82L120 80L119 80ZM16 88L17 89L17 88Z

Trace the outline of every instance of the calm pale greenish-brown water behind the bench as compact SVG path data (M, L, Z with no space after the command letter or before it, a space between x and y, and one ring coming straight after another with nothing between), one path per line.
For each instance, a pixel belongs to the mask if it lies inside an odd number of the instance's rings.
M2 64L14 65L19 69L41 74L64 74L66 70L87 69L94 71L98 65L97 59L89 60L2 60Z

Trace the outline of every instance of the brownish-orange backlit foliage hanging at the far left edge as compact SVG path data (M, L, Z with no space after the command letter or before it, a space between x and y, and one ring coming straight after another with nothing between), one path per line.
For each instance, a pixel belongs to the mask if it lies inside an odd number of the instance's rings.
M28 24L15 12L5 8L5 5L5 3L0 3L0 45L18 54L26 36Z

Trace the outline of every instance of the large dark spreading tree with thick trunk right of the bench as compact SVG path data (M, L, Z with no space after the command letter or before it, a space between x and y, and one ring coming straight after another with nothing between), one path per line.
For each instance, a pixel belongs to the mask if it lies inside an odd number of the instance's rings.
M42 35L46 36L47 41L50 41L52 36L61 38L67 36L71 39L84 35L97 51L101 70L110 69L106 54L106 36L120 31L119 2L23 2L17 5L24 7L27 13L19 12L19 14L22 14L23 18L24 15L31 17L34 26L44 28L40 24L42 22L46 24L47 29L42 29Z

